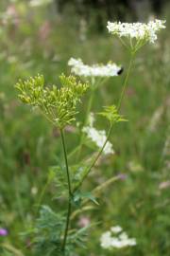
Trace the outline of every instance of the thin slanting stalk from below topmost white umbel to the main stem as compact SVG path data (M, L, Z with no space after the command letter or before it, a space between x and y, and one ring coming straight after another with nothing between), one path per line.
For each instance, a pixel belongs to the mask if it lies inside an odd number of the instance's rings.
M123 83L123 88L122 88L122 92L121 92L121 96L120 96L120 100L118 102L118 110L120 110L120 107L121 107L121 104L122 104L122 101L124 99L124 96L125 96L125 92L126 92L126 88L127 88L127 81L128 81L128 78L129 78L129 74L130 74L130 71L131 71L131 67L132 67L132 64L133 64L133 61L134 61L134 53L131 52L131 57L130 57L130 62L128 64L128 68L127 68L127 75L126 75L126 78L125 78L125 81ZM85 172L85 175L82 177L82 179L80 180L80 182L77 184L76 188L74 189L74 191L78 190L83 181L86 179L86 177L88 176L88 174L90 174L93 166L95 165L96 161L98 160L98 158L100 157L100 155L102 155L102 152L108 142L108 140L110 139L110 134L111 134L111 131L112 131L112 128L113 128L113 125L114 125L114 122L111 122L110 123L110 128L109 128L109 132L108 132L108 135L107 135L107 138L102 146L102 148L100 149L100 151L98 152L98 154L94 157L90 167L88 167L87 169L87 172Z

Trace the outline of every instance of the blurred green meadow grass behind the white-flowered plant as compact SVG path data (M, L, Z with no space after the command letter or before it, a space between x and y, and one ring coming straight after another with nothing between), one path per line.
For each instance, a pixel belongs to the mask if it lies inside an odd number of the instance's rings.
M14 83L42 73L47 83L58 84L59 74L70 72L70 57L82 58L87 64L113 61L122 64L125 72L129 58L108 34L105 12L98 19L97 9L88 7L87 19L72 3L59 13L53 1L47 2L40 6L24 0L0 2L0 227L8 229L8 236L0 237L0 247L5 243L13 249L5 252L0 248L2 256L18 255L14 248L33 255L29 241L20 233L34 221L49 166L62 155L58 131L18 101ZM120 4L116 5L120 9ZM145 12L153 15L151 9ZM81 218L98 221L99 225L90 233L87 249L80 250L79 255L170 255L169 13L168 5L159 13L167 20L167 28L158 43L145 46L137 55L122 106L129 121L117 125L111 137L116 154L102 159L85 185L93 188L111 176L122 177L102 193L100 207L82 214ZM115 12L112 19L123 19L124 15L127 20L134 18L124 9L121 15ZM99 21L102 27L98 27ZM93 112L118 101L123 79L124 74L110 79L96 92ZM82 117L79 115L79 119ZM98 127L107 128L103 119L98 120ZM76 135L69 133L68 141L72 150ZM56 193L52 184L43 198L43 203L54 210L58 205L51 197ZM100 235L114 225L135 237L137 247L102 251Z

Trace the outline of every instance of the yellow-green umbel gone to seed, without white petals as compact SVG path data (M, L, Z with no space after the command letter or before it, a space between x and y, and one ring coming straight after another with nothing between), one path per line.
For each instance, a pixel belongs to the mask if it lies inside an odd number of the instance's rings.
M61 87L44 87L42 75L19 81L15 87L20 91L19 98L26 104L37 107L46 119L59 129L75 120L76 104L88 89L87 83L77 82L74 76L59 76Z

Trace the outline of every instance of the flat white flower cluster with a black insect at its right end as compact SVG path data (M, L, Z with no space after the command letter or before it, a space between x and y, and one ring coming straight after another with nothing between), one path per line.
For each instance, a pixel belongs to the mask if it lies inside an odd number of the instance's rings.
M68 62L71 72L82 77L115 77L122 73L122 67L117 64L83 64L81 59L71 58Z

